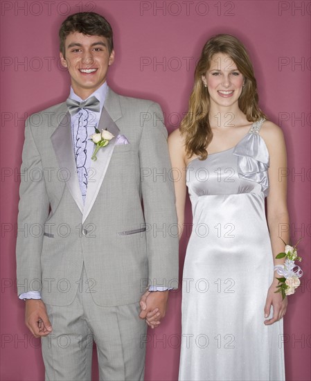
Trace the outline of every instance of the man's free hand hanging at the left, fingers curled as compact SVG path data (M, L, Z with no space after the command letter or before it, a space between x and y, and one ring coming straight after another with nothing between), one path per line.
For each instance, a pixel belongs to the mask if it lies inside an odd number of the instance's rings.
M35 337L47 336L51 333L52 325L48 320L48 315L46 314L46 308L43 301L41 299L27 299L25 303L25 322L30 332Z

